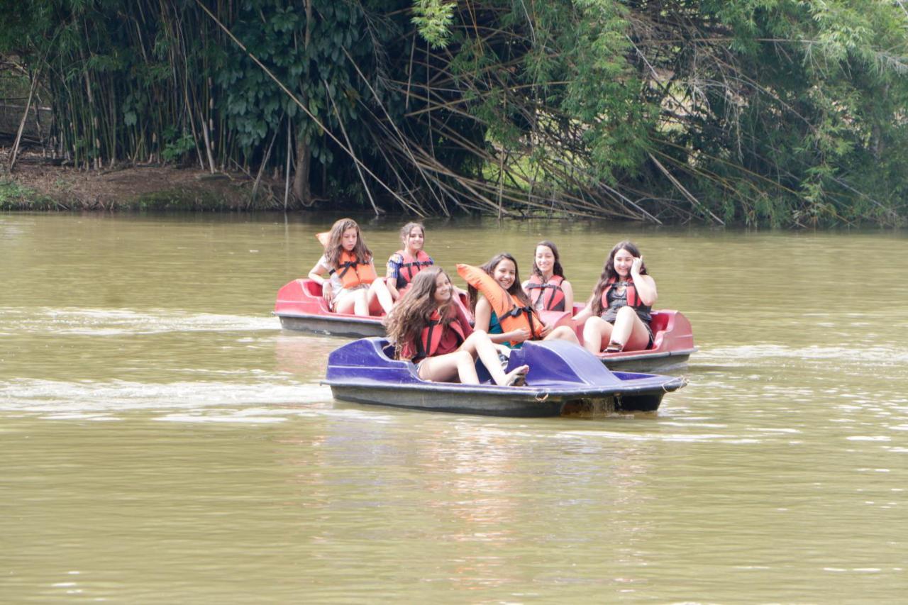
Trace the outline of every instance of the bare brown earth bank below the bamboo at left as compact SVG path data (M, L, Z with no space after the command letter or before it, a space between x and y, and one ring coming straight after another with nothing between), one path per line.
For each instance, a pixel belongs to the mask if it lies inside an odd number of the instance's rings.
M0 165L0 210L264 210L281 205L283 195L283 183L262 179L253 200L254 179L242 172L168 165L84 171L26 153L10 173L7 150Z

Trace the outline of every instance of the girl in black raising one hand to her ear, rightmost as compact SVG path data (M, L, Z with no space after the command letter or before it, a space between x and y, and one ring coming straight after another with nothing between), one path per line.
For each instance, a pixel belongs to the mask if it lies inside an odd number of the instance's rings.
M646 273L643 255L630 242L619 242L606 258L599 282L583 311L583 346L589 352L641 351L653 343L650 314L656 281Z

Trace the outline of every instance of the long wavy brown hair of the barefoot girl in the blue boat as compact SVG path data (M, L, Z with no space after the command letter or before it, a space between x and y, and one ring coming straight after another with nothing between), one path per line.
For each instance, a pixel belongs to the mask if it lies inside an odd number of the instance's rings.
M385 318L388 340L394 344L395 357L400 358L400 350L405 344L419 341L423 328L429 325L436 309L439 310L442 323L453 322L457 317L453 291L449 302L439 306L435 301L435 282L439 275L444 275L450 282L450 276L441 267L427 267L417 273L410 282L410 288Z

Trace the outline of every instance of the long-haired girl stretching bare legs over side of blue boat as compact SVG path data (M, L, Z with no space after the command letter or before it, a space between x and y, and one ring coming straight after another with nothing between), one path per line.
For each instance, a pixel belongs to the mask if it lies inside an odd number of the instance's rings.
M473 331L460 306L454 286L440 267L419 272L385 319L395 356L417 364L426 381L479 384L476 358L498 386L519 386L529 370L522 365L505 373L498 348L481 330Z

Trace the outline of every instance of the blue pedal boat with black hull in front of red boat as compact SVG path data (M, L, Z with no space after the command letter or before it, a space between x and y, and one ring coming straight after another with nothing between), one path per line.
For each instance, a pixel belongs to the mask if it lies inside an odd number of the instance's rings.
M527 383L502 387L477 364L480 384L419 379L412 362L392 359L382 338L363 338L331 352L322 384L335 399L430 412L539 417L602 410L655 412L666 392L686 379L612 372L599 359L563 341L524 342L511 352L507 371L527 364Z

